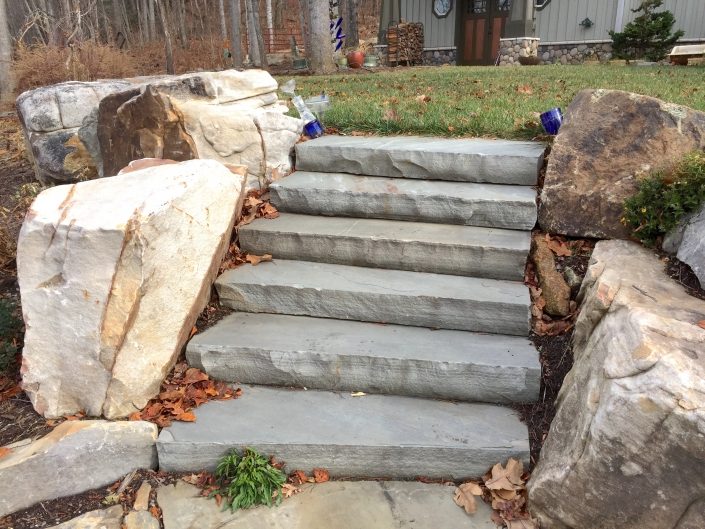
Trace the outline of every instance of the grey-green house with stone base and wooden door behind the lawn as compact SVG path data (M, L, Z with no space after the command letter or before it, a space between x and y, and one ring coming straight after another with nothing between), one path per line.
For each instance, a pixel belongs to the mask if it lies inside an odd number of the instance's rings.
M383 0L380 42L399 20L424 25L427 64L515 64L533 50L544 63L611 56L641 0ZM665 0L682 43L705 42L705 0ZM511 40L505 40L511 39Z

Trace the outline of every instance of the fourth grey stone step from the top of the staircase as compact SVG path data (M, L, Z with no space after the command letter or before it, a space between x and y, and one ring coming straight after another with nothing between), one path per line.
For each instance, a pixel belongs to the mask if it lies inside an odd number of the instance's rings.
M278 259L228 270L216 288L244 312L529 333L529 291L513 281Z

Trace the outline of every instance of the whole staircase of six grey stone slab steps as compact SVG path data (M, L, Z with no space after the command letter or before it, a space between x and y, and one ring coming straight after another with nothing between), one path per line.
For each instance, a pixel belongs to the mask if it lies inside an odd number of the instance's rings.
M274 261L224 273L220 300L237 312L187 347L243 396L164 429L162 468L213 468L244 446L350 477L528 461L507 406L540 387L522 279L542 161L528 142L299 144L297 172L272 186L280 216L240 231Z

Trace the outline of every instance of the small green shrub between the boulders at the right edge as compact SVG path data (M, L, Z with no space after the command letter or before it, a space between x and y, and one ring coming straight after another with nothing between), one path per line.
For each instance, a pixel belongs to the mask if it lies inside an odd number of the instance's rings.
M647 246L660 244L684 216L705 203L705 152L696 151L670 172L655 172L624 203L622 222Z

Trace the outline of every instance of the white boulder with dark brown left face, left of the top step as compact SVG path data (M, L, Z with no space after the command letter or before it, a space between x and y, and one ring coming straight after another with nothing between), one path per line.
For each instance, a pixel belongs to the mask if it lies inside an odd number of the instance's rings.
M253 86L228 88L227 82ZM267 83L267 79L271 83ZM225 82L224 87L218 83ZM289 172L302 122L286 116L266 72L161 79L104 98L98 138L105 174L138 158L209 158L245 165L252 182Z

